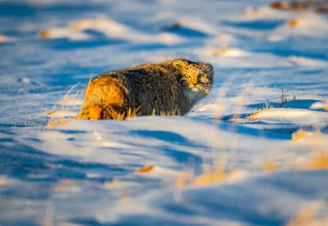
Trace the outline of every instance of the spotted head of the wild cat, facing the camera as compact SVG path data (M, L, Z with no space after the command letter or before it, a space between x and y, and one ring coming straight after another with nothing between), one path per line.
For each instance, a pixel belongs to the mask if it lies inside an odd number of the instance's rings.
M173 66L181 71L185 94L192 99L208 95L213 85L213 66L209 63L176 59Z

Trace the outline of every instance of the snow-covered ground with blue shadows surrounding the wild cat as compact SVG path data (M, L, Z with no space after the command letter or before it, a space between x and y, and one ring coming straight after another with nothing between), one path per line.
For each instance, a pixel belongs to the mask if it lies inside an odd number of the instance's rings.
M326 225L328 18L269 4L1 0L0 224ZM188 115L46 129L175 56L214 66Z

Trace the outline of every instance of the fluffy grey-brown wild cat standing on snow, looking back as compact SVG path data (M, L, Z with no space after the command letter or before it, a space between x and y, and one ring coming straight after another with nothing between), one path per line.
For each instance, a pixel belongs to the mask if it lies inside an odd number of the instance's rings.
M86 88L78 119L117 119L129 109L138 109L140 116L177 109L186 114L197 100L207 95L211 77L210 64L184 59L108 72Z

